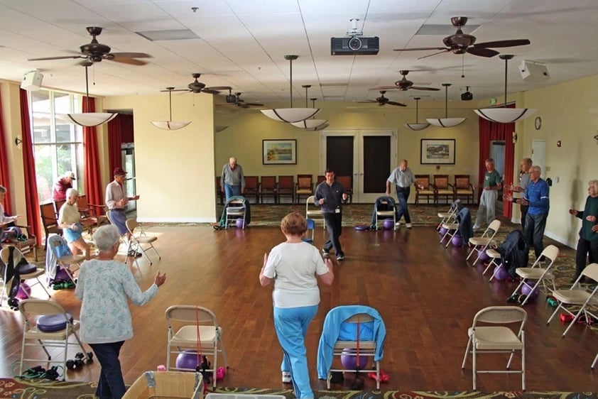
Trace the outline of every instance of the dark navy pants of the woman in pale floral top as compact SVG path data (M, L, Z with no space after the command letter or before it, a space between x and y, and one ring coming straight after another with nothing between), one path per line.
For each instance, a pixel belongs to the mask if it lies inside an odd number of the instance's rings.
M124 341L109 344L89 344L102 369L95 395L100 399L121 399L126 391L119 354Z

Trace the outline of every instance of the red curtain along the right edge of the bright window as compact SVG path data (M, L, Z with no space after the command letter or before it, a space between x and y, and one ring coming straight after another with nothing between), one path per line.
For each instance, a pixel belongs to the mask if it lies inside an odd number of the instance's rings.
M83 112L95 112L95 99L83 97ZM95 126L83 127L83 152L85 159L85 195L89 204L104 204L102 195L102 177L99 172L97 151L97 132Z

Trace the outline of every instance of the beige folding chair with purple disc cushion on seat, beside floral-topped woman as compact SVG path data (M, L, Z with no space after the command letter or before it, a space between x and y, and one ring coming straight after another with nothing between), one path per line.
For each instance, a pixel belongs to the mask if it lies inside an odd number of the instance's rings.
M21 371L19 374L23 374L23 365L26 365L26 362L34 362L28 364L38 364L40 361L43 363L54 363L54 364L61 364L62 365L62 378L64 378L64 373L67 369L67 354L69 345L73 345L69 342L70 336L74 336L77 340L77 345L81 349L81 353L85 354L85 348L79 336L77 335L77 331L79 331L79 321L72 320L72 317L60 306L58 303L53 302L51 300L38 300L38 299L27 299L22 300L18 304L18 310L21 311L21 315L23 315L23 340L21 343ZM55 315L57 319L62 319L64 317L65 328L60 329L54 332L43 332L38 328L37 322L39 321L38 317L36 316L52 316ZM35 317L35 318L34 318ZM25 350L27 347L41 347L47 356L47 359L40 359L40 358L31 358L26 357ZM62 349L63 355L62 359L60 360L52 360L52 356L50 356L50 352L48 348L58 348ZM39 354L39 350L32 351L35 354ZM30 355L30 356L33 356ZM88 360L91 360L89 355L87 356Z

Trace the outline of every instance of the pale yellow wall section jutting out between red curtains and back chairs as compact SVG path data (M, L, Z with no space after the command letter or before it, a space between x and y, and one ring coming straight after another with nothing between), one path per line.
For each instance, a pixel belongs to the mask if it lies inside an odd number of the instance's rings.
M133 110L138 220L215 222L212 96L173 96L173 119L191 121L177 131L150 123L168 120L166 94L106 97L104 107Z

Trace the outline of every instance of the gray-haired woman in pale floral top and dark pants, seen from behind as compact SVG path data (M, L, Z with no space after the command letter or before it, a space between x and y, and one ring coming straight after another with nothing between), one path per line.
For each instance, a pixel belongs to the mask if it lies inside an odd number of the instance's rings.
M100 226L93 236L98 255L81 265L75 295L82 300L81 340L92 347L102 369L95 395L122 398L125 385L119 354L126 339L133 337L133 322L127 298L145 305L158 294L166 275L156 273L145 291L137 285L126 263L114 261L119 251L120 234L116 226Z

